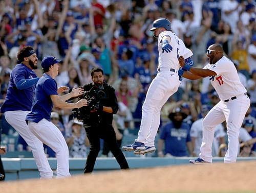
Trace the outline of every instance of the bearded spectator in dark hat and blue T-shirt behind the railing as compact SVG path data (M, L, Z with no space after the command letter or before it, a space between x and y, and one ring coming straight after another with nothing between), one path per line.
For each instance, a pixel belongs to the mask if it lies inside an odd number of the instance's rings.
M186 114L176 107L169 114L170 123L167 123L161 129L158 140L158 156L188 156L192 155L192 144L189 135L189 125L183 122ZM163 153L164 144L164 153Z

